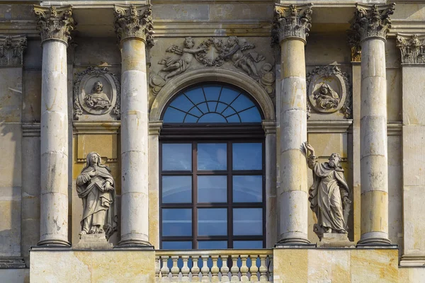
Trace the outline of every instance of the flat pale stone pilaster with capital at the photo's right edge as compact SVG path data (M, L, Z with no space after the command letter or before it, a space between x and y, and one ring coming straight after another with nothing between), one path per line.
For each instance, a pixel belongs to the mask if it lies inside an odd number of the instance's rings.
M402 56L403 255L400 265L425 265L425 35L397 35Z

